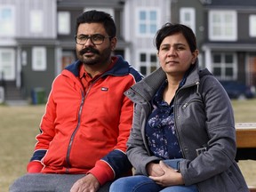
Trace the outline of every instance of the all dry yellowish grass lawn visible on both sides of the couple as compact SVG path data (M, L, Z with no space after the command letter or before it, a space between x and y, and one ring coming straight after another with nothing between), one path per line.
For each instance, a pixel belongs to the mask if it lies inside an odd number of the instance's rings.
M236 123L256 122L256 100L232 100ZM44 106L0 106L0 191L7 192L13 180L26 173L36 144ZM239 162L244 178L256 186L256 161Z

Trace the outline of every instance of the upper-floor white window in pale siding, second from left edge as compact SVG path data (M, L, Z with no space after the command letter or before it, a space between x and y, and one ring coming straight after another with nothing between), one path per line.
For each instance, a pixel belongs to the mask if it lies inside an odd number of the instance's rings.
M42 34L44 32L44 12L42 10L31 10L29 20L30 33Z

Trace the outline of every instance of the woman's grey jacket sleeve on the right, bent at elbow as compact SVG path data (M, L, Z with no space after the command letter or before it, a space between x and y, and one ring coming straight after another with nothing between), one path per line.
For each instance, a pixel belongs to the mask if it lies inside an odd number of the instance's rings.
M186 185L227 171L236 157L235 120L227 93L218 80L210 76L202 84L202 94L206 117L202 128L206 129L205 137L209 137L209 140L207 151L192 161L187 159L180 162L180 172Z

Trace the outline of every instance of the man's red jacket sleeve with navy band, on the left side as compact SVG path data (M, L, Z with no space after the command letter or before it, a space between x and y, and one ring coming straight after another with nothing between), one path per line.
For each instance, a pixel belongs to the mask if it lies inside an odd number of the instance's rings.
M55 119L55 104L52 100L52 92L50 92L44 116L40 123L40 133L36 135L36 146L33 156L27 165L28 172L41 172L44 164L41 163L42 158L46 154L49 144L54 137L54 119Z

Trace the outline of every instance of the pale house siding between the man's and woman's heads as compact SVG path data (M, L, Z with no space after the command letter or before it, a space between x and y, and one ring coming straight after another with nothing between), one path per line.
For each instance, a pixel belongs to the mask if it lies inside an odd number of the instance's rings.
M125 2L124 6L124 40L129 42L131 46L126 50L128 60L134 68L140 70L140 52L155 52L156 47L154 46L154 37L156 33L150 36L138 36L136 32L137 26L137 12L139 9L153 9L158 12L157 29L161 28L164 23L171 21L171 1L155 1L155 0L129 0ZM148 63L148 66L150 64ZM148 75L148 73L146 74Z

